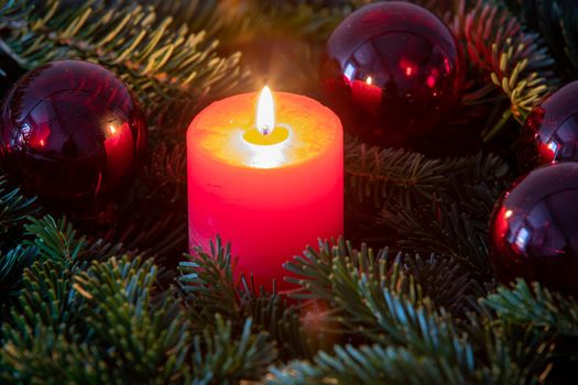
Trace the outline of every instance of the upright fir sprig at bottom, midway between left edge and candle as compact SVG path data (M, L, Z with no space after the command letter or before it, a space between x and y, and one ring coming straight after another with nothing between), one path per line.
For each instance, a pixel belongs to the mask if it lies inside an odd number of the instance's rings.
M152 260L111 257L74 277L86 324L106 349L113 377L165 383L186 372L188 323L170 292L154 296L156 274Z

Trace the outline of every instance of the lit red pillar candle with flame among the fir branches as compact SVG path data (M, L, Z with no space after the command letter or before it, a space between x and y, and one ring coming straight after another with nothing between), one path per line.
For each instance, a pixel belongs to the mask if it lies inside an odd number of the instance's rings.
M343 232L342 144L337 116L304 96L210 105L187 131L190 248L220 235L241 273L287 288L283 263Z

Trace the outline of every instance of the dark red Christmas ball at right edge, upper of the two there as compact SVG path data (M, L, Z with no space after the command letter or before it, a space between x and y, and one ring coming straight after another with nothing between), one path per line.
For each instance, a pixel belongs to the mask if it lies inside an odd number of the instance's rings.
M578 161L578 81L563 87L532 110L517 156L523 170Z

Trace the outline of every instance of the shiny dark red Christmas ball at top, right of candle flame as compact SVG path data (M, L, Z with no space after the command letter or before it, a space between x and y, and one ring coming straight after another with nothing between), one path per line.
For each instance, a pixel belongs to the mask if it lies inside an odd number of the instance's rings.
M457 100L462 57L449 29L401 1L360 8L334 31L321 78L346 128L371 144L430 133Z

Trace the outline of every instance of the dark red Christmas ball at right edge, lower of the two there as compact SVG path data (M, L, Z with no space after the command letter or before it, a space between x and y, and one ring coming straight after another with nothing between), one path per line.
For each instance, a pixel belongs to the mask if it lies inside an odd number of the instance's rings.
M578 298L578 163L537 168L503 195L490 261L504 284L522 277Z

